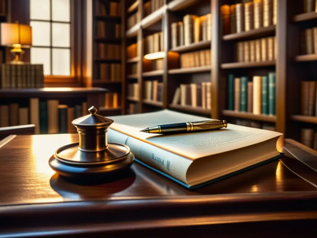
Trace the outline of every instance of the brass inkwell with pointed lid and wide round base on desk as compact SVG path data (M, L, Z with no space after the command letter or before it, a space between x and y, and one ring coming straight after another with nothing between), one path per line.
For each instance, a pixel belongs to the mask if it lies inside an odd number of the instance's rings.
M118 173L131 166L134 155L126 145L107 143L107 131L113 120L88 109L89 115L72 121L79 142L57 149L49 166L65 177L83 178Z

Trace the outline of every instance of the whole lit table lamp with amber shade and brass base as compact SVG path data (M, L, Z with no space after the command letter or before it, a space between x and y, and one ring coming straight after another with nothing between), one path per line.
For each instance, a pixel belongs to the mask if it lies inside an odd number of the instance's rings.
M12 47L10 50L14 59L13 64L23 64L21 56L22 48L29 48L32 45L32 27L16 23L1 23L1 45Z

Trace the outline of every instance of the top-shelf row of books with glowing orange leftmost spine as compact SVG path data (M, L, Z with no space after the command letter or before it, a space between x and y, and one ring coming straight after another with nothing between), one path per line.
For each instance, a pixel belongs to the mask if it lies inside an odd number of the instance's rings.
M223 34L240 33L276 25L277 0L253 0L221 6Z

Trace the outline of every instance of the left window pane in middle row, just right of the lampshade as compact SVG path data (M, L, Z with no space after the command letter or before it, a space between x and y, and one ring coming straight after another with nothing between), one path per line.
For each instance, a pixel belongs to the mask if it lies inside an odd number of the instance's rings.
M49 22L30 21L32 27L32 45L50 46L51 25Z

